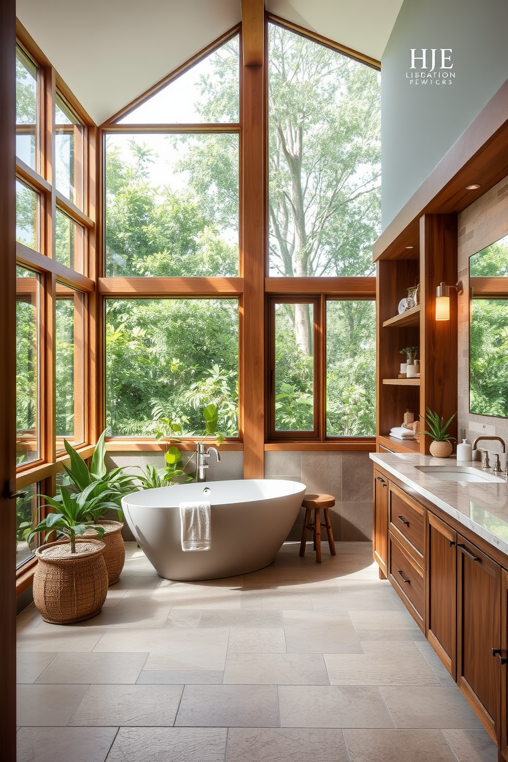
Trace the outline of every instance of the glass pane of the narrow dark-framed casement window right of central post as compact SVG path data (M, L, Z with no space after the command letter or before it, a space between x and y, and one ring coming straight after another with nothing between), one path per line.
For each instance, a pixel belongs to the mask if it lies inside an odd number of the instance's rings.
M314 430L314 305L275 306L275 428Z

